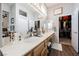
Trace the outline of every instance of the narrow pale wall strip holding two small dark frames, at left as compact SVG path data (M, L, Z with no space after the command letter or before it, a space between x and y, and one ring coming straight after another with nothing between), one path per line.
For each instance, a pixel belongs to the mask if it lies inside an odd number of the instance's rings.
M11 26L15 26L15 18L16 18L16 7L15 7L15 3L11 3L10 4L10 17L9 17L9 31L10 32L15 32L15 28L14 30L11 30ZM11 19L14 18L14 23L11 23Z

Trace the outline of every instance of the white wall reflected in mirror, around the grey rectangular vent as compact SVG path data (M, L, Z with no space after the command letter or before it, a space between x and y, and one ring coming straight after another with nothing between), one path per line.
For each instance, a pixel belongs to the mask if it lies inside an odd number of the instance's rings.
M27 13L27 17L23 17L19 15L19 10L25 11ZM31 27L34 27L34 21L37 21L37 20L40 20L42 25L43 20L45 20L46 18L41 18L39 16L40 14L37 13L34 9L32 9L28 4L17 3L16 4L16 23L15 23L16 32L28 31Z

